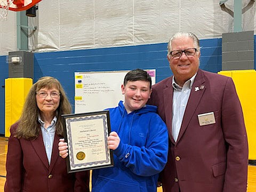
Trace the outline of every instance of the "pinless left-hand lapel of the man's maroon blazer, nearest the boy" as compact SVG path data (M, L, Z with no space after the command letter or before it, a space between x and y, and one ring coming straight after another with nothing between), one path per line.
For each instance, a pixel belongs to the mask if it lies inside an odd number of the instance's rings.
M172 78L171 81L166 83L166 88L164 89L164 113L165 113L165 123L168 127L169 138L171 142L175 145L175 141L172 137L172 97L173 97L173 87Z

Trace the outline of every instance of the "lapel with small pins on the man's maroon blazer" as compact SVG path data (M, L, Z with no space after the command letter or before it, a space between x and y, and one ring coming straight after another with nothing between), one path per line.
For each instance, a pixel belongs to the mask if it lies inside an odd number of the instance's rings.
M191 87L191 92L189 95L187 107L183 116L181 128L180 128L180 133L179 137L177 139L177 143L181 139L182 135L185 133L188 124L192 118L192 116L195 113L195 110L204 94L205 89L205 79L202 70L198 70L197 76L195 78L195 82L193 83L193 86Z

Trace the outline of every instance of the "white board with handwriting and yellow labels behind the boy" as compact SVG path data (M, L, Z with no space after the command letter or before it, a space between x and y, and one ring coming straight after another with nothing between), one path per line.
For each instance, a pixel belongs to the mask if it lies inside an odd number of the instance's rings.
M156 83L156 70L145 69ZM75 113L100 111L116 107L119 100L124 100L121 92L125 75L122 71L75 72Z

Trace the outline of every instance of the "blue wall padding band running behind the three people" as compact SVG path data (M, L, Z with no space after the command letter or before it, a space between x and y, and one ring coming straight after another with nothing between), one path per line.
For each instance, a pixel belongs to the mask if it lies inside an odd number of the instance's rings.
M221 38L200 40L201 69L214 73L221 70L221 43ZM66 90L74 110L75 72L130 70L135 68L156 69L156 82L159 82L172 75L166 55L167 43L35 53L34 82L42 76L58 78ZM4 84L4 79L8 77L8 65L5 63L5 56L0 57L0 65L5 66L1 67L0 75L1 82ZM2 111L4 111L4 92L0 93L0 98L3 101L0 102L0 134L3 134L4 113L2 114Z

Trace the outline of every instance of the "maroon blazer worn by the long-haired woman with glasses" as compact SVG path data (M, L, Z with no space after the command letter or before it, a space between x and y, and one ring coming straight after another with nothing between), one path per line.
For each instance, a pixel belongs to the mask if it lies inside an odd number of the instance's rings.
M66 159L59 156L57 134L49 166L42 134L35 140L17 139L13 137L17 127L15 123L10 130L4 191L89 191L89 172L67 173Z

